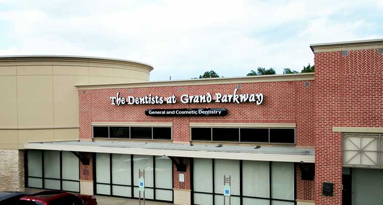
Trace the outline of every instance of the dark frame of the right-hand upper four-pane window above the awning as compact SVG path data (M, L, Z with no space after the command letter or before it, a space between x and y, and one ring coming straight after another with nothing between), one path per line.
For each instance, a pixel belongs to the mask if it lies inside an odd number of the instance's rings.
M211 134L211 140L210 141L203 141L203 140L193 140L192 138L192 128L210 128L210 134ZM237 128L239 133L239 141L213 141L213 128ZM268 129L269 130L269 142L241 142L241 128L243 129ZM270 129L294 129L294 143L272 143L270 142ZM296 145L297 143L297 129L296 127L234 127L234 126L228 126L228 127L216 127L216 126L190 126L189 127L189 133L190 133L190 142L208 142L208 143L243 143L243 144L274 144L274 145ZM172 133L173 134L173 133Z

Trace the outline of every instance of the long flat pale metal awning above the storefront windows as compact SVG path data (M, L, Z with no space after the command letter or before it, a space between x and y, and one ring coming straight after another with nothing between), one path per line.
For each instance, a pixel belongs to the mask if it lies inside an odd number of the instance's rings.
M275 161L315 163L314 149L295 147L266 147L240 145L202 145L177 143L145 143L119 141L64 141L32 142L25 149L61 150L78 152L101 152L116 154L141 154L158 156L181 156L195 158L218 158L227 160Z

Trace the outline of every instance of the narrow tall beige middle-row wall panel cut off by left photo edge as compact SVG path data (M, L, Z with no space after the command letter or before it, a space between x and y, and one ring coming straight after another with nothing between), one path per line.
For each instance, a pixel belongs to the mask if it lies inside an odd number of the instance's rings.
M0 127L17 127L16 76L0 76Z

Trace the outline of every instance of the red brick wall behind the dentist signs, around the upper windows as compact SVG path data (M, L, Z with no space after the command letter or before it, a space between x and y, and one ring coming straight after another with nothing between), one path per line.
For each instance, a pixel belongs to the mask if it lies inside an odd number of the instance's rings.
M91 139L91 122L172 122L173 140L189 142L189 122L228 123L296 123L297 145L314 146L314 81L304 86L305 81L243 83L238 94L262 93L264 102L255 103L201 103L183 104L182 94L203 95L209 92L232 94L237 84L193 85L167 87L143 87L129 89L79 90L80 139ZM111 105L109 97L121 93L122 97L142 97L149 94L177 96L176 104L162 105ZM227 108L225 117L148 117L148 108Z

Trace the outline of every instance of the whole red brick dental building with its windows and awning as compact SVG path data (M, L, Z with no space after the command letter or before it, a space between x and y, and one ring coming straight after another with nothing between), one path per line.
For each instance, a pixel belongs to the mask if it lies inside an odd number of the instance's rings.
M175 204L228 202L223 176L231 178L232 204L381 204L383 40L311 48L315 74L78 85L80 140L25 148L60 150L62 159L71 151L87 194L137 198L145 169L147 198ZM216 102L234 90L263 100ZM118 106L117 93L165 102ZM207 93L210 103L180 99ZM177 102L166 103L172 96ZM228 113L146 114L209 108Z

